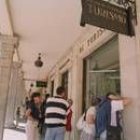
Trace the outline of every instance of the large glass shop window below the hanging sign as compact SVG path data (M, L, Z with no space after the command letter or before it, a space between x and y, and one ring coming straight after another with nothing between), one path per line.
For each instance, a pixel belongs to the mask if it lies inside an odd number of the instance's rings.
M120 93L118 37L115 36L84 59L83 110L93 97Z

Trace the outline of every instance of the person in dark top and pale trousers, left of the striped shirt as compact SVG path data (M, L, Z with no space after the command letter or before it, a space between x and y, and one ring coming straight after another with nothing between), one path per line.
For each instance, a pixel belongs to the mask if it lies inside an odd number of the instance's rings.
M26 111L27 124L26 124L26 136L27 140L39 140L39 121L41 116L41 94L39 92L34 92L31 95L31 101L28 105Z

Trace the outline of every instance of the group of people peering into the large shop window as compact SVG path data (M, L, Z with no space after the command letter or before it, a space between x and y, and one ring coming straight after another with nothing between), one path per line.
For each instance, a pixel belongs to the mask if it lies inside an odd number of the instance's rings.
M115 93L93 99L77 123L80 140L123 140L122 111L130 102Z

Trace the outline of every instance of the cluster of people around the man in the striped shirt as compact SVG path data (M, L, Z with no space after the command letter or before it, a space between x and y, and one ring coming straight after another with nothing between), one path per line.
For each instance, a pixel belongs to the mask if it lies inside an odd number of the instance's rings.
M26 107L27 140L64 140L70 137L73 101L65 97L62 86L57 88L56 96L47 94L43 102L39 92L31 95Z

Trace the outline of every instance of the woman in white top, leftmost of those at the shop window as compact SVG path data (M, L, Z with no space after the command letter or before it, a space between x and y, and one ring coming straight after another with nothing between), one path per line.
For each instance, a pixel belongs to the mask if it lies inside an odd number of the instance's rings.
M80 140L95 140L95 117L96 117L96 105L99 100L93 99L92 106L86 111L85 126L81 132Z

